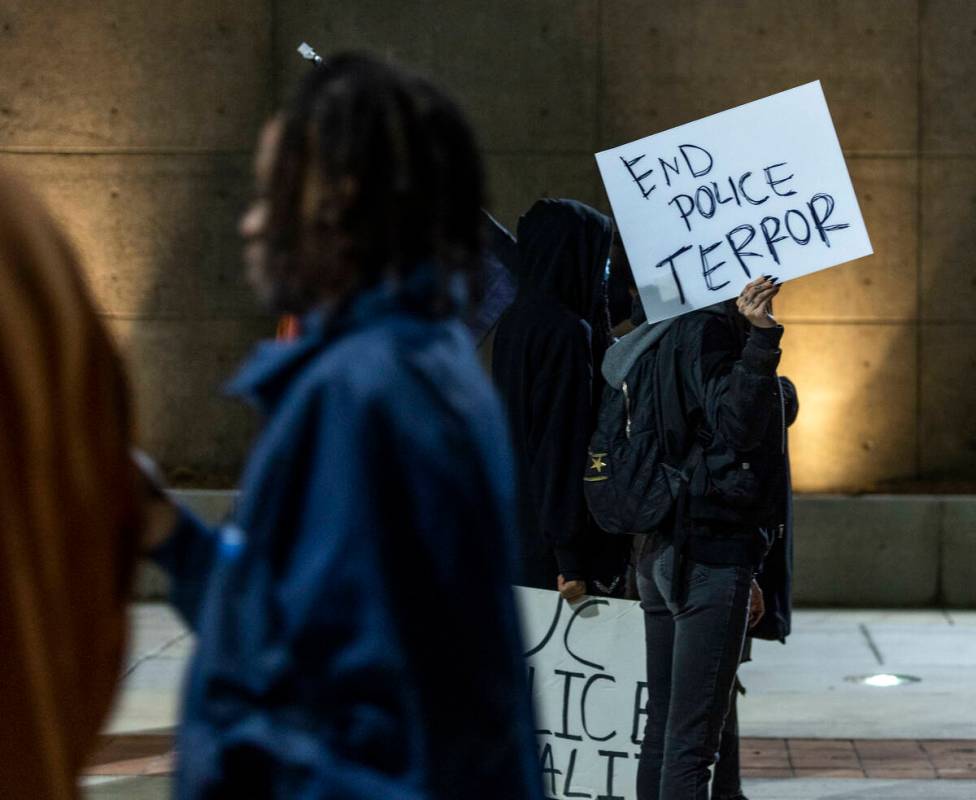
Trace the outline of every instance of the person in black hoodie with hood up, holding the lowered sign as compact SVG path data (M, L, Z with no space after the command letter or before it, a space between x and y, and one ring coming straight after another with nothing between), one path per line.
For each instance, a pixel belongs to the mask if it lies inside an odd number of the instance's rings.
M574 200L539 200L519 219L518 294L492 356L519 477L521 583L567 599L587 580L610 588L629 547L596 535L581 481L610 339L612 232L609 217Z

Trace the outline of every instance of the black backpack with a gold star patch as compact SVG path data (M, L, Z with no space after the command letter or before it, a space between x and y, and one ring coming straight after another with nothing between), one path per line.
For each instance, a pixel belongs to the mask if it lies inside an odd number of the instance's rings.
M603 389L583 493L593 519L608 533L658 530L672 509L683 510L691 474L701 460L697 436L679 466L669 458L660 391L667 381L662 381L658 360L653 345L620 389L609 384ZM629 384L635 376L640 377L639 403Z

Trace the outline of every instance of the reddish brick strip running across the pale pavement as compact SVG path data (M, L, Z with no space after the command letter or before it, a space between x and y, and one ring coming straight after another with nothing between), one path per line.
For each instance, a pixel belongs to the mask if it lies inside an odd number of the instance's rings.
M172 772L168 733L106 736L90 776ZM746 778L886 778L976 780L976 741L907 739L743 739Z

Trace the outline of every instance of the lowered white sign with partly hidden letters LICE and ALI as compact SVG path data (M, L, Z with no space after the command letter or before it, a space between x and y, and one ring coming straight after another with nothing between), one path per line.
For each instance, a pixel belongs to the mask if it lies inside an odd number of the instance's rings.
M644 616L629 600L516 587L547 798L634 800L647 682Z

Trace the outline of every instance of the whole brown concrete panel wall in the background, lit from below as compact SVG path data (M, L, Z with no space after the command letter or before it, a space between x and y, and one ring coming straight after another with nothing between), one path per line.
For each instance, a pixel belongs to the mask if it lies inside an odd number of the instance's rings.
M249 429L213 390L268 329L233 218L300 40L446 83L510 225L543 194L605 206L598 149L820 79L876 255L783 293L797 484L973 481L974 30L967 0L8 0L0 163L36 177L88 256L151 449L227 476Z

